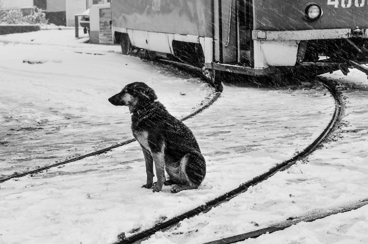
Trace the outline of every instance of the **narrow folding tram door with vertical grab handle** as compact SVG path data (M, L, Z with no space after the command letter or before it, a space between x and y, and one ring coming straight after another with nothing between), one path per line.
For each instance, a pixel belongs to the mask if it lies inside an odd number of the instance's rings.
M251 65L252 0L214 0L215 61Z

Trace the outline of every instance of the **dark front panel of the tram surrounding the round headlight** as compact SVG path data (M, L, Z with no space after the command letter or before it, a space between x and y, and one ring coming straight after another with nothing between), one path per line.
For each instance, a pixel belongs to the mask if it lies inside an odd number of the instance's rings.
M311 2L323 11L316 21L305 18ZM260 31L368 28L367 0L254 0L253 8L254 29Z

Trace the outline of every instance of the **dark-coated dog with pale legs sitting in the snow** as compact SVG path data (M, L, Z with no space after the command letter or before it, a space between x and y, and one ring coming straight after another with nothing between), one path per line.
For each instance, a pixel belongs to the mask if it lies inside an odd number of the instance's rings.
M111 104L127 106L131 113L132 133L141 144L146 163L147 181L142 188L159 192L163 185L173 185L173 193L197 189L206 175L206 161L197 140L157 99L155 91L143 82L128 84L109 98Z

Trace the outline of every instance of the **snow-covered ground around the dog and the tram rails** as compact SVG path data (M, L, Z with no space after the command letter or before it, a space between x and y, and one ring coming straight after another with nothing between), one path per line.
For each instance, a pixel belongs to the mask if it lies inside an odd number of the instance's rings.
M121 55L118 46L81 40L72 29L0 36L0 177L131 137L128 109L107 101L130 82L152 86L177 117L213 95L178 70ZM356 70L344 78L339 72L330 76L367 84ZM205 243L367 198L367 92L350 88L344 95L342 125L308 161L145 243ZM147 229L291 158L322 132L334 107L319 86L226 85L215 104L185 121L207 163L199 189L171 194L169 187L159 193L140 188L144 159L134 142L1 183L0 243L112 243L122 232ZM367 223L368 208L362 207L245 243L357 243L367 240Z

